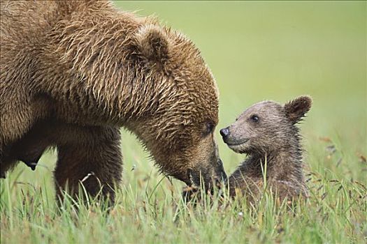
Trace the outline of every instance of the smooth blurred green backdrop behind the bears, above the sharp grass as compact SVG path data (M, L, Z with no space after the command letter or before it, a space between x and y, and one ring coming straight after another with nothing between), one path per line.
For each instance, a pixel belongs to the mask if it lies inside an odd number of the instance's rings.
M339 176L365 178L366 2L364 1L115 1L137 15L155 15L185 33L201 49L220 89L217 142L230 174L244 155L233 153L219 135L246 107L260 100L286 102L309 94L314 103L301 125L306 165ZM329 137L339 155L320 160ZM134 135L123 132L124 185L157 174ZM307 156L308 155L308 156ZM343 167L337 167L343 157ZM20 181L52 184L55 153ZM45 167L42 167L45 166ZM46 168L47 167L47 168ZM134 167L134 171L131 169ZM151 173L153 172L153 173ZM16 175L14 172L13 175ZM41 177L42 176L42 177ZM45 177L45 180L44 180ZM177 181L175 181L177 182Z

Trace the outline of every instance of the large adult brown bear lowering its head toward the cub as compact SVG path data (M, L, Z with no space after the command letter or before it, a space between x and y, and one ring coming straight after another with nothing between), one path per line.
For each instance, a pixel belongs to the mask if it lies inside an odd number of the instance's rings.
M57 185L93 171L94 193L95 178L120 181L123 126L165 174L188 185L225 176L217 87L199 50L108 1L1 1L0 97L1 175L56 146Z

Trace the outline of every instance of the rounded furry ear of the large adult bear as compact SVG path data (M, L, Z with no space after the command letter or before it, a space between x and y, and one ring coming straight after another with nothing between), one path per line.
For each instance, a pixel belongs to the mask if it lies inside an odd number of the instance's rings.
M168 59L169 39L163 28L153 24L142 26L136 33L136 42L146 59L161 64Z

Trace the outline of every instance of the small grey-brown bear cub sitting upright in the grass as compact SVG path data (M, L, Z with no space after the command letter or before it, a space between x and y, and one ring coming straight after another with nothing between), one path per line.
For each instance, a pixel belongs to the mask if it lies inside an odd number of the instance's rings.
M308 197L296 124L311 104L309 96L300 96L285 105L259 102L220 130L229 148L247 154L245 162L229 177L231 197L243 195L254 202L265 188L280 199Z

